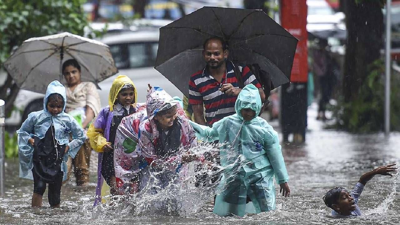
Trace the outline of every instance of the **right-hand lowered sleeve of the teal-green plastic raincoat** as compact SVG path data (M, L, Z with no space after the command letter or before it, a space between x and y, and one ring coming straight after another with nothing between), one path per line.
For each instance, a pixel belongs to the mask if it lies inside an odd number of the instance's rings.
M278 184L289 180L286 171L285 161L282 156L281 146L279 145L278 133L276 131L267 131L264 135L264 150L274 169L275 179Z

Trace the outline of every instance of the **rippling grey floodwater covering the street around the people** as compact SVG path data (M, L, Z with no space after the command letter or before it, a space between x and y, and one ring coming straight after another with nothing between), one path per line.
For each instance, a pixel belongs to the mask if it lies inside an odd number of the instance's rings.
M61 208L50 209L47 191L40 209L31 209L33 182L18 178L18 160L6 161L6 196L0 198L1 224L399 224L400 181L396 176L376 176L367 183L360 197L362 217L339 219L330 216L323 201L324 193L336 186L351 189L359 177L380 165L400 163L400 134L389 138L382 134L351 135L322 130L310 115L307 142L284 145L286 167L290 176L291 197L277 193L275 211L245 217L219 217L212 214L212 201L198 212L186 216L133 216L124 205L92 209L95 176L87 189L76 190L71 181L62 187ZM400 175L397 174L397 175ZM396 191L393 193L392 191ZM277 188L277 192L279 189ZM115 213L115 209L118 212Z

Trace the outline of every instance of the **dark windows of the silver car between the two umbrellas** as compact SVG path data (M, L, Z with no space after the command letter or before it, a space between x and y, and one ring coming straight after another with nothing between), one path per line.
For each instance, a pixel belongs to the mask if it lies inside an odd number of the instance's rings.
M117 68L153 67L156 62L158 42L134 42L110 45Z

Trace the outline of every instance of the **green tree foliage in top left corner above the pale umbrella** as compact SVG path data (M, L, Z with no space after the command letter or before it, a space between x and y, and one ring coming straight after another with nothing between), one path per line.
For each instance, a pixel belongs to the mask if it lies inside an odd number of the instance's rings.
M85 0L0 0L0 64L28 38L71 32L83 35L88 22L81 8ZM1 85L1 84L0 84ZM18 87L10 75L0 86L6 113L12 110Z

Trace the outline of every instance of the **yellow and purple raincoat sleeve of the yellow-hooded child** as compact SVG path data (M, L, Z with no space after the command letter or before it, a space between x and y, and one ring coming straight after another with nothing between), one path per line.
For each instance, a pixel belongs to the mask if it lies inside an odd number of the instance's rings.
M106 124L107 117L103 115L104 110L101 110L99 115L94 119L94 122L90 124L88 132L86 135L89 138L90 146L96 152L102 153L103 147L106 144L110 144L107 139L104 137L105 127L95 127L95 124ZM104 120L104 121L103 121Z

